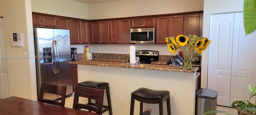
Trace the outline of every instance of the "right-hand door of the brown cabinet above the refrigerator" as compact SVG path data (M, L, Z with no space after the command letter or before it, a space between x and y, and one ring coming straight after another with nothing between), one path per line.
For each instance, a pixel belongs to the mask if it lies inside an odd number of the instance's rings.
M43 16L44 27L58 28L58 18Z

